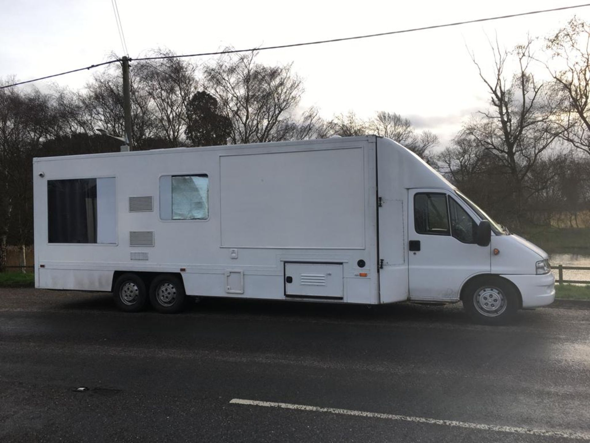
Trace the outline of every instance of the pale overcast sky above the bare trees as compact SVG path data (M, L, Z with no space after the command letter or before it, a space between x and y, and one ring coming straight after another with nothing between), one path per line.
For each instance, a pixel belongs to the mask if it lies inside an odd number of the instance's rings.
M582 0L217 1L117 0L130 57L151 48L178 54L373 34L582 4ZM111 0L0 0L0 79L29 80L123 55ZM352 110L369 118L396 112L448 145L461 123L489 103L471 61L491 74L490 40L503 48L546 37L590 6L437 30L269 50L258 60L293 63L304 81L300 109L324 118ZM540 48L540 45L539 45ZM541 49L536 56L543 59ZM211 57L192 59L210 63ZM132 63L133 67L133 63ZM100 68L99 68L100 69ZM542 66L536 74L545 76ZM78 89L91 71L53 81ZM48 82L38 82L40 89Z

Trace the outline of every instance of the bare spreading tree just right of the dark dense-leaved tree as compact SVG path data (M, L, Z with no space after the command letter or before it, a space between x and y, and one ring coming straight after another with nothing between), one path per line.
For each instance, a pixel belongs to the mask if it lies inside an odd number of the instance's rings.
M257 53L225 55L205 67L205 87L232 122L233 144L289 139L303 83L291 64L264 66Z

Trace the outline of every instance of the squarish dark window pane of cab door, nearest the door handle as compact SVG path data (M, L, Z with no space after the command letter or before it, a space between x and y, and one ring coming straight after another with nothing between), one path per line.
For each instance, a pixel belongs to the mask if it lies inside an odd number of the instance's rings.
M414 229L418 234L450 235L447 194L414 195Z

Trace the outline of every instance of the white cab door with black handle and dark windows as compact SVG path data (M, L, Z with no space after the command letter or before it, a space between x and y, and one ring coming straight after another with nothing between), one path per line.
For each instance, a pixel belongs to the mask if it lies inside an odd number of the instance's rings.
M490 245L476 244L479 220L453 193L408 192L409 298L456 301L464 281L490 272Z

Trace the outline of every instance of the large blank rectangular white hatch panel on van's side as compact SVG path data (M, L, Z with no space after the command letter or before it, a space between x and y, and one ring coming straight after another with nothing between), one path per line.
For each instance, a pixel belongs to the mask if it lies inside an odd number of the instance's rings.
M365 247L363 149L223 156L221 246Z

